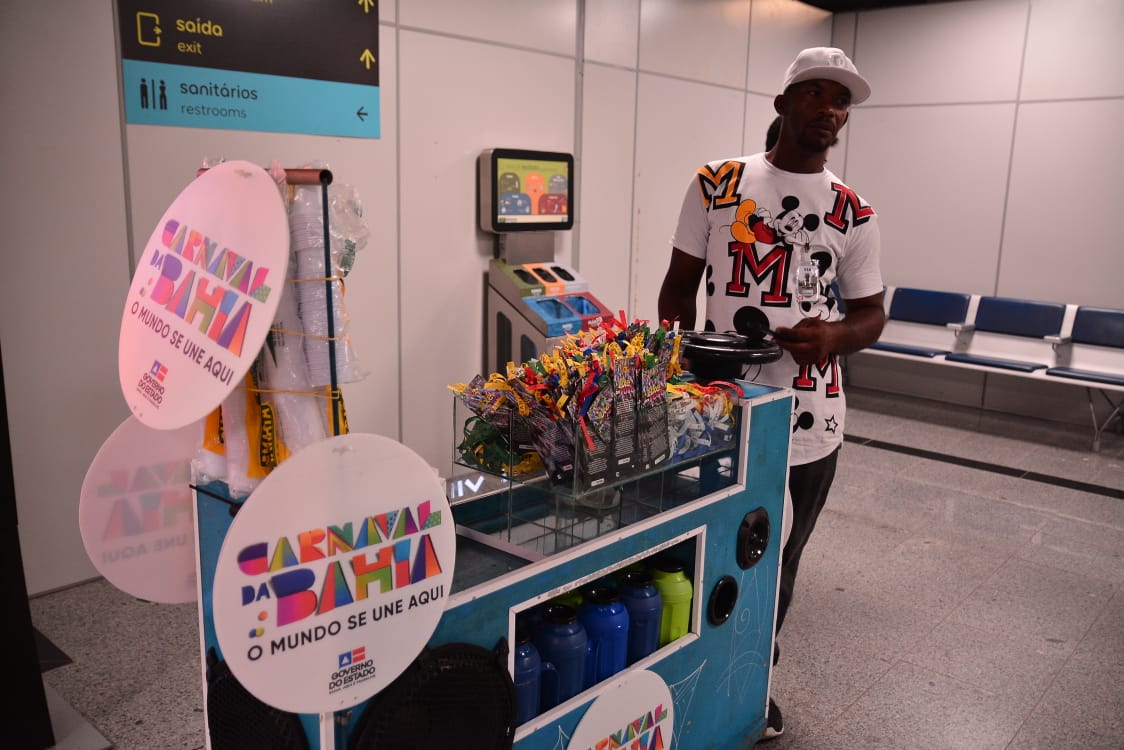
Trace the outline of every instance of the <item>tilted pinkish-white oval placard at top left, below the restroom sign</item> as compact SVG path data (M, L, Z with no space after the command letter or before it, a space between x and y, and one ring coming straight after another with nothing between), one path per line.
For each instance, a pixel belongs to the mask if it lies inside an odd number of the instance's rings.
M225 162L160 219L125 300L117 365L133 414L174 430L221 404L261 351L289 264L273 178Z

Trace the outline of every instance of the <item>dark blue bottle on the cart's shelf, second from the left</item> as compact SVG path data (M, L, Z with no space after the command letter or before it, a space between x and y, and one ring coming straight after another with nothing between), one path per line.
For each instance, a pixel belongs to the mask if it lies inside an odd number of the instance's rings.
M569 701L586 689L586 658L589 636L578 620L573 607L552 604L543 612L543 620L534 635L535 648L543 661L543 711Z

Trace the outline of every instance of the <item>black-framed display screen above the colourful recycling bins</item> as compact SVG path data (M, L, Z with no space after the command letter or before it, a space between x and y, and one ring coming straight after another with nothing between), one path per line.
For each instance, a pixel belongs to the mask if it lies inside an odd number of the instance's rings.
M489 232L570 229L573 157L493 148L480 156L480 218Z

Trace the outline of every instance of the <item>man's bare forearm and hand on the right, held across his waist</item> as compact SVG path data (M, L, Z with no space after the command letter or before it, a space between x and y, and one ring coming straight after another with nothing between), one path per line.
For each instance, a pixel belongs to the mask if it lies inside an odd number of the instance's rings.
M853 354L878 341L886 325L882 292L846 299L843 305L846 315L841 320L804 318L791 328L779 326L777 343L798 363L815 364L828 354Z

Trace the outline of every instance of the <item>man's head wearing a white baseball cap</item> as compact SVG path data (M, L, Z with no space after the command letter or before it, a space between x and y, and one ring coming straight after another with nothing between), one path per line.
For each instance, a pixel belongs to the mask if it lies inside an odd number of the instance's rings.
M846 124L851 105L869 96L870 84L841 49L803 51L785 73L783 93L773 100L773 109L783 118L786 153L826 153Z

